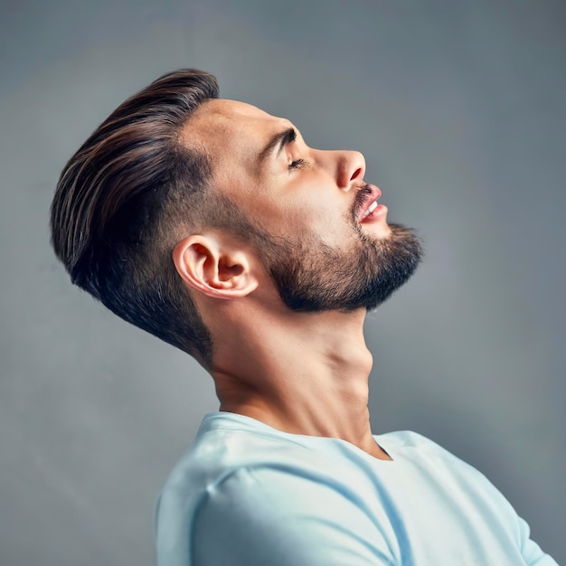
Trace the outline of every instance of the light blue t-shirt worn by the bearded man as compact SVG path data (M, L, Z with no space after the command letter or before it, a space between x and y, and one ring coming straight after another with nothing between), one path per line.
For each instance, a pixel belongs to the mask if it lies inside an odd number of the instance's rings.
M339 439L207 414L156 510L159 566L556 566L485 476L414 432Z

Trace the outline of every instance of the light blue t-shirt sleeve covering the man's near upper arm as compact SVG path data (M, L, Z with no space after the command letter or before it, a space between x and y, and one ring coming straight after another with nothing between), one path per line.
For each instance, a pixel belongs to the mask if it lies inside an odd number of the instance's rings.
M209 487L193 524L194 566L392 566L363 509L307 477L242 468Z

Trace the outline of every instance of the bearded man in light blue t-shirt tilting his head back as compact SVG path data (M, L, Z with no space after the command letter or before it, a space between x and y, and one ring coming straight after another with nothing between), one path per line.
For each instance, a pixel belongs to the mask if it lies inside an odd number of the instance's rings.
M61 174L52 243L73 282L212 374L156 515L163 566L555 562L474 468L373 436L363 319L420 259L363 156L218 99L202 71L122 104Z

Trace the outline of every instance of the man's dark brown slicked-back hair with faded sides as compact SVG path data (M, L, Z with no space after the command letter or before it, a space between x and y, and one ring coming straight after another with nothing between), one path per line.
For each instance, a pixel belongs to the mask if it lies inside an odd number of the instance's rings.
M52 246L72 282L204 365L212 339L172 251L214 213L211 160L180 135L215 98L216 79L187 69L127 99L71 157L51 209Z

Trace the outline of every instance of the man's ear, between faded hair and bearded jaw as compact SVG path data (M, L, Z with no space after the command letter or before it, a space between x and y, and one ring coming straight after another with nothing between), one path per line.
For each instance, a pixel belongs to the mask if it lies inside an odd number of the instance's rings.
M258 287L247 252L215 235L198 234L179 241L173 261L185 283L209 297L245 297Z

